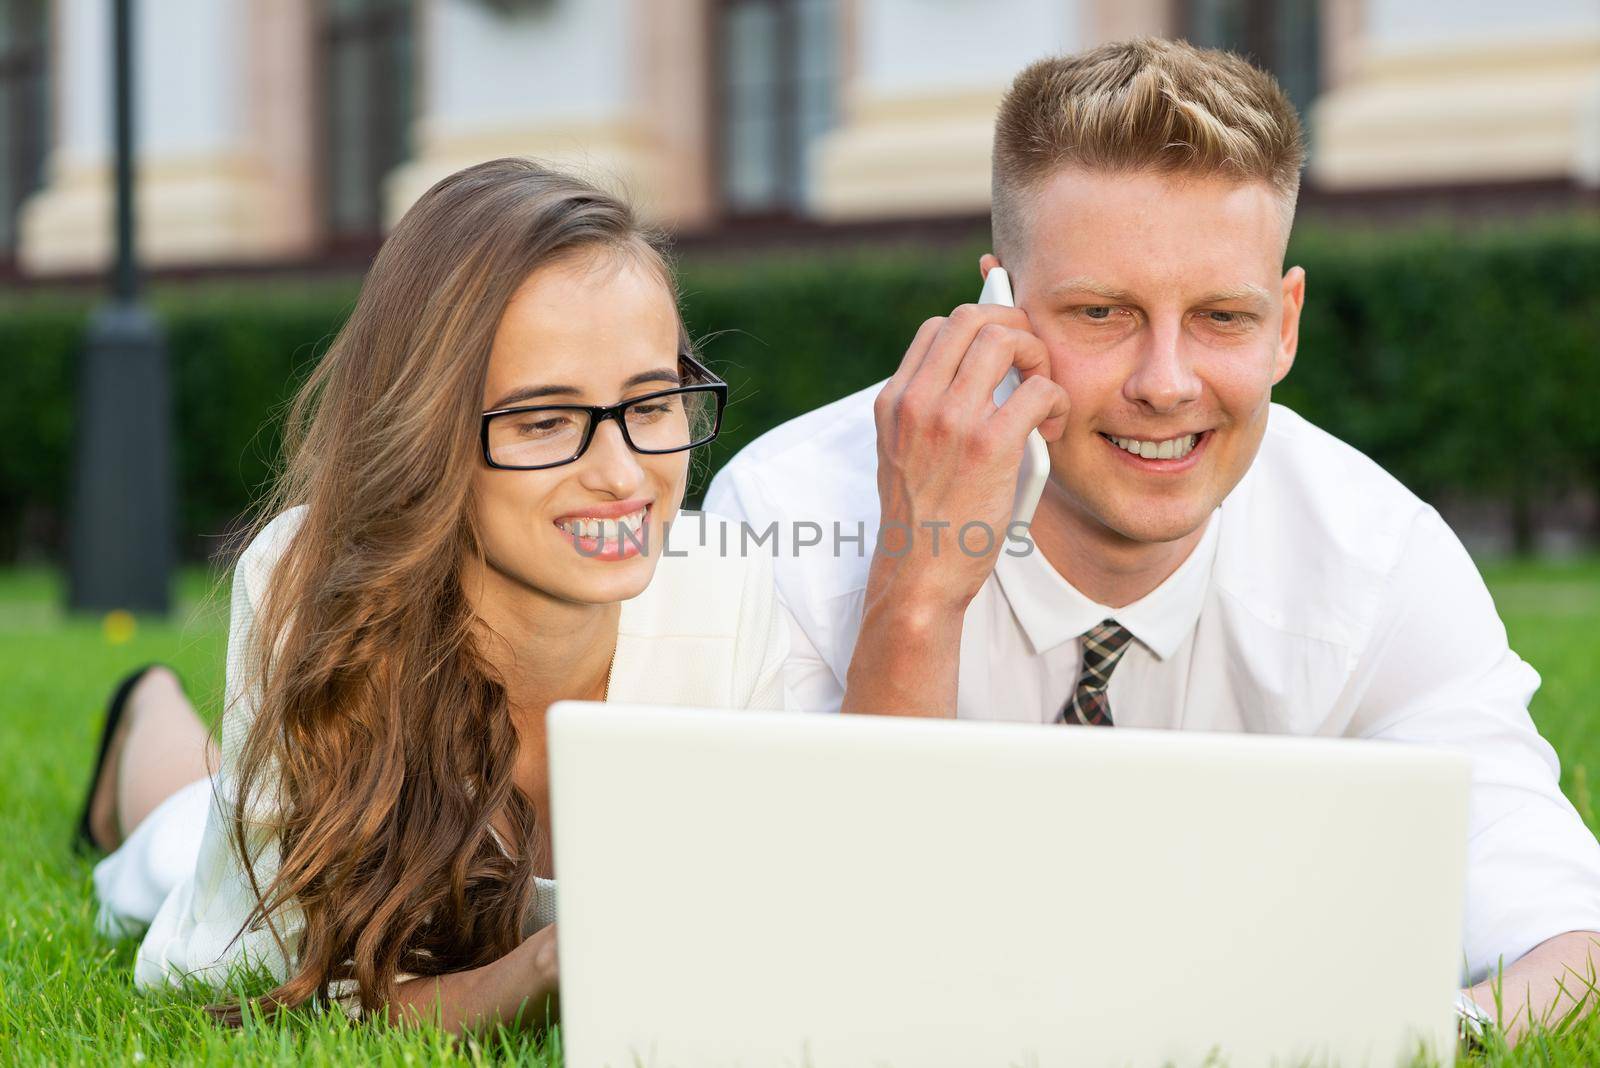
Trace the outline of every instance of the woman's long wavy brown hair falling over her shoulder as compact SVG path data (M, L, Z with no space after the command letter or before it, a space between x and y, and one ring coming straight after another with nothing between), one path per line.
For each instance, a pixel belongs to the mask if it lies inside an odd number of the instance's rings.
M522 940L534 811L512 783L506 689L462 595L480 556L470 484L502 310L538 267L598 249L666 272L632 211L586 182L523 160L443 179L384 243L290 408L285 470L254 529L304 516L258 608L254 678L229 686L256 695L230 798L258 897L246 927L304 918L298 945L278 942L290 972L267 1010L354 980L371 1012L400 972L477 967ZM266 886L262 833L280 852ZM242 1017L237 1002L213 1010Z

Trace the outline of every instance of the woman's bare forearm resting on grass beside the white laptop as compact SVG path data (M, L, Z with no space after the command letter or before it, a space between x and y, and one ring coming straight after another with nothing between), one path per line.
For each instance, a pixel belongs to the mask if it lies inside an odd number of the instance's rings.
M397 1023L438 1023L459 1034L496 1023L544 1028L558 1015L555 924L483 967L400 983L386 1009Z

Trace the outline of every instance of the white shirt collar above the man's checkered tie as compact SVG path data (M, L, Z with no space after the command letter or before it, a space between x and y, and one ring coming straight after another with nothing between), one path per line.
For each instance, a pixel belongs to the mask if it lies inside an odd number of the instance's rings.
M1216 560L1219 528L1221 523L1213 512L1200 544L1184 563L1178 564L1178 571L1120 609L1096 604L1078 593L1050 566L1037 547L1026 556L1000 553L1000 560L995 561L995 577L1035 654L1072 641L1099 622L1115 619L1157 659L1165 660L1178 652L1200 619L1200 608L1211 585L1211 561Z

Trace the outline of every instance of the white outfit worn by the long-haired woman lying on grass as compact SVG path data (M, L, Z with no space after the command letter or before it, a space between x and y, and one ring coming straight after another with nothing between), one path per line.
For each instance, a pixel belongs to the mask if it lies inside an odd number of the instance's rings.
M245 931L235 938L254 894L226 836L232 806L224 798L234 796L238 748L254 716L246 681L253 678L256 606L299 520L298 508L274 520L234 574L216 780L202 779L170 796L94 868L101 931L115 935L147 926L134 961L139 986L186 975L219 982L245 958L280 978L288 972L272 932ZM774 593L771 561L758 552L720 555L717 547L726 542L720 542L718 523L712 516L704 524L680 521L650 587L622 603L610 700L782 708L789 619ZM277 847L270 841L253 847L266 886L277 870ZM530 934L555 919L555 883L539 879L536 889L525 919ZM286 910L275 923L293 951L299 916Z

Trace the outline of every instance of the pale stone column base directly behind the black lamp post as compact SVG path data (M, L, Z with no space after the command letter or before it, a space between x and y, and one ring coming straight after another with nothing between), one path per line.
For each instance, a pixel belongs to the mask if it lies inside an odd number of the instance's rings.
M150 265L304 256L312 190L314 0L146 0L138 8L139 251ZM45 187L21 213L38 275L112 256L110 5L58 0Z

